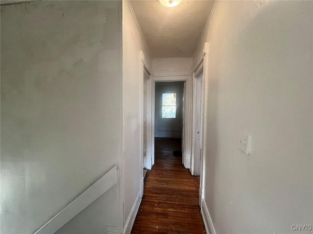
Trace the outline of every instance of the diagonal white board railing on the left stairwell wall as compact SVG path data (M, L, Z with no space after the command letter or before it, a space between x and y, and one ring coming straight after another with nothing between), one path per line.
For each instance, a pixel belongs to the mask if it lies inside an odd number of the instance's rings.
M99 196L108 191L113 185L117 183L117 180L117 166L115 165L86 191L84 191L75 200L69 203L62 211L57 213L53 218L46 222L45 225L34 234L54 234L69 220L88 207Z

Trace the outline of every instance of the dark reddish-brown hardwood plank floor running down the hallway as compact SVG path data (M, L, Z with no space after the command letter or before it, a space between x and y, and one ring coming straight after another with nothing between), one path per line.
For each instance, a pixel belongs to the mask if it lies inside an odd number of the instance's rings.
M155 165L144 185L144 195L132 234L203 234L196 179L181 164L181 140L156 138Z

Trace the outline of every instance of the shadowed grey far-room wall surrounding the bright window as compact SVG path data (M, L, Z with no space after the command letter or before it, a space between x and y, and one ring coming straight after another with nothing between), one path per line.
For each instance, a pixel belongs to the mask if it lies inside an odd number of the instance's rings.
M155 137L181 138L183 82L156 82ZM176 118L162 118L162 94L176 93Z

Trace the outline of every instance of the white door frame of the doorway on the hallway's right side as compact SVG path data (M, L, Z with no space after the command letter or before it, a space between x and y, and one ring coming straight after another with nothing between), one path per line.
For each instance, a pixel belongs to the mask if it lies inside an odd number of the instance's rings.
M193 79L197 79L197 76L203 71L202 79L202 120L201 120L201 173L200 173L200 188L199 188L199 206L202 209L202 201L205 194L205 165L207 155L207 96L208 96L208 57L209 56L209 43L204 43L202 53L199 55L194 68ZM204 144L205 143L205 144ZM193 145L195 147L195 145Z

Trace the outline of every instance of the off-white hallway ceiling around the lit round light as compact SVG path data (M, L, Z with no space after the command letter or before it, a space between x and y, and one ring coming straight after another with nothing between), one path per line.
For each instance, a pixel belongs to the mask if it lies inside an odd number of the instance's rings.
M158 0L131 0L153 58L192 57L214 0L182 0L168 8Z

